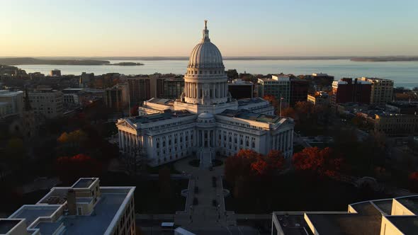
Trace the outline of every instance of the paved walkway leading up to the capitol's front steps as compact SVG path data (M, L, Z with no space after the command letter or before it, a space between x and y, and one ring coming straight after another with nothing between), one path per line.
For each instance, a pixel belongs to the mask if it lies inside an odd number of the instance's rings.
M235 214L225 211L223 197L222 175L224 165L208 168L193 167L188 164L191 159L183 159L174 164L178 171L191 175L188 186L186 211L176 212L174 222L185 229L225 228L236 225ZM216 185L214 187L215 181ZM195 193L195 188L198 192ZM197 198L198 205L193 205L193 198ZM215 206L213 204L215 200Z

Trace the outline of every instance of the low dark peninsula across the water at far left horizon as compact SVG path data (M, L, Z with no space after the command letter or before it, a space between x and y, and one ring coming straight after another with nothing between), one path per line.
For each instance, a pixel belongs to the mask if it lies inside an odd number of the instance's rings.
M35 59L24 58L0 58L0 64L22 65L22 64L52 64L52 65L103 65L110 64L107 60L98 59Z

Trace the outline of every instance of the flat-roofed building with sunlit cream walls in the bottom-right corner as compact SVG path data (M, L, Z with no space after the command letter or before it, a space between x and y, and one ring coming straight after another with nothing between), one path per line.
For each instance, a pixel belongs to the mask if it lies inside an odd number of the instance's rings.
M418 234L418 195L349 205L346 212L273 212L272 235Z

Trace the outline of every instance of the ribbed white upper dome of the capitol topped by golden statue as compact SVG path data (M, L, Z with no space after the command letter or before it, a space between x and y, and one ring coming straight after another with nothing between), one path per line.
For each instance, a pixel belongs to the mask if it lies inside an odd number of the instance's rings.
M193 48L188 60L188 68L224 69L220 50L209 39L209 30L203 30L202 41Z

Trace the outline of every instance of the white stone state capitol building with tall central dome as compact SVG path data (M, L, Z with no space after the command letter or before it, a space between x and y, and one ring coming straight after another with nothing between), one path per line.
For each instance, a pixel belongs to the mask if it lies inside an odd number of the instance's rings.
M139 116L118 120L120 151L129 156L142 149L150 166L192 155L210 165L216 154L230 156L240 149L260 154L277 149L292 156L293 120L273 115L273 106L262 98L231 97L222 55L210 42L206 23L191 51L181 97L152 98Z

